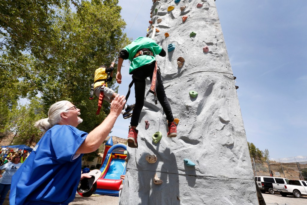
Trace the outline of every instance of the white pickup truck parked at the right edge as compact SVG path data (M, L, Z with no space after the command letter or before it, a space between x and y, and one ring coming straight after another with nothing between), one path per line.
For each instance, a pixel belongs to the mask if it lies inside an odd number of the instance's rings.
M289 184L273 183L273 190L279 191L282 196L293 195L300 198L301 195L307 195L307 181L289 180Z

